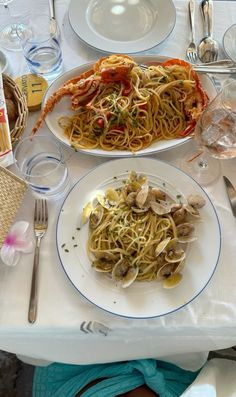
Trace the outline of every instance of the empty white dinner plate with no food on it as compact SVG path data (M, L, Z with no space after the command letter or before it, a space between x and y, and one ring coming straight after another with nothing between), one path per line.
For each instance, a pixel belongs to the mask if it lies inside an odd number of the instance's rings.
M69 21L91 47L117 54L148 50L175 26L172 0L71 0Z

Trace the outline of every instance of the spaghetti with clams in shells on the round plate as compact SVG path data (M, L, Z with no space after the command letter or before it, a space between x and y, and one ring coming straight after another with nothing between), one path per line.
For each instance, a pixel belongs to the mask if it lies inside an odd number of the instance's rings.
M107 189L96 201L83 215L90 208L87 248L97 272L123 288L152 280L172 288L181 281L186 244L196 240L189 219L200 216L201 197L182 204L149 186L145 175L131 172L122 187Z

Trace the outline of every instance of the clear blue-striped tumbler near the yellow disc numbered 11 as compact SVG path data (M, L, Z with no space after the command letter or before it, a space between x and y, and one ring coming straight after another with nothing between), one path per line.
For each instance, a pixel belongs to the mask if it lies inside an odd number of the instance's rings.
M30 14L27 31L19 31L23 54L31 73L47 80L62 71L60 32L55 20L47 14Z

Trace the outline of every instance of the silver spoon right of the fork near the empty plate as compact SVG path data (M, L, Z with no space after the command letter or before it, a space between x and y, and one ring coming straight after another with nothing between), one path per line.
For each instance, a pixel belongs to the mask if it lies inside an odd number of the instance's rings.
M203 16L204 38L198 46L198 57L204 62L216 61L219 52L219 44L212 38L213 25L213 2L212 0L203 0L201 2Z

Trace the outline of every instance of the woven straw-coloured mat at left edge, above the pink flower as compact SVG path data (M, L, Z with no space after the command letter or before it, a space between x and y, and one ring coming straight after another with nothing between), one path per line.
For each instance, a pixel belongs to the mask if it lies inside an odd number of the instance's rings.
M23 201L28 185L11 171L0 166L0 247Z

